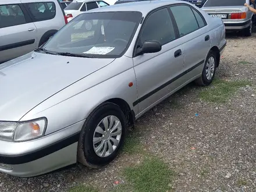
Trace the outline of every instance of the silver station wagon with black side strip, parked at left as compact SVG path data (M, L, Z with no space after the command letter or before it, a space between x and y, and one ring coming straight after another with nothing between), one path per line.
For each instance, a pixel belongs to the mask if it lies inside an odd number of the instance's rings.
M57 0L0 1L0 63L40 47L65 23Z

